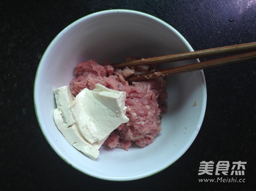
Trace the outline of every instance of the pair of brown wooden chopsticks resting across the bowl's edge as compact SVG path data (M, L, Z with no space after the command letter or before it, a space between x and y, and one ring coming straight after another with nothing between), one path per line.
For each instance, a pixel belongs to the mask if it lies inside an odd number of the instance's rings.
M244 53L242 53L244 52ZM241 54L236 54L241 53ZM221 65L227 65L232 63L238 63L247 60L256 59L256 42L253 43L244 43L232 46L223 46L218 48L210 48L200 51L185 52L179 54L170 54L160 57L151 57L140 60L132 60L124 63L112 64L114 68L124 68L126 66L141 66L141 65L150 65L150 64L160 64L160 63L169 63L182 60L191 60L202 57L211 57L218 56L223 54L236 54L227 57L221 57L213 60L207 60L200 63L193 63L184 66L178 66L174 68L164 69L157 72L150 72L147 74L136 75L128 77L126 80L128 82L132 81L142 81L148 80L157 77L166 77L172 74L180 74L189 71L196 71L205 68L212 68Z

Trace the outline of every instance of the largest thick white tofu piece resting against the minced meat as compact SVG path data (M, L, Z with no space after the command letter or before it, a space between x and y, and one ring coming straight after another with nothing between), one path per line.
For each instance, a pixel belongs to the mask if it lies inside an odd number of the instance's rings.
M99 143L122 123L125 116L126 92L96 84L94 90L84 88L71 103L76 126L88 143Z

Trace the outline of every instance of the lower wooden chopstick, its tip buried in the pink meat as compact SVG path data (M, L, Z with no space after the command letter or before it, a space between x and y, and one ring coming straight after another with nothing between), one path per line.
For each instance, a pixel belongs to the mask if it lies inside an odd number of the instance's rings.
M128 82L142 81L142 80L148 80L148 79L153 79L157 77L166 77L172 74L180 74L184 72L196 71L196 70L201 70L205 68L212 68L216 66L232 64L232 63L242 62L246 60L253 60L253 59L256 59L256 51L250 51L242 54L236 54L233 56L207 60L200 63L193 63L185 66L178 66L175 68L169 68L169 69L160 70L156 72L150 72L147 74L132 76L127 78L126 80Z

